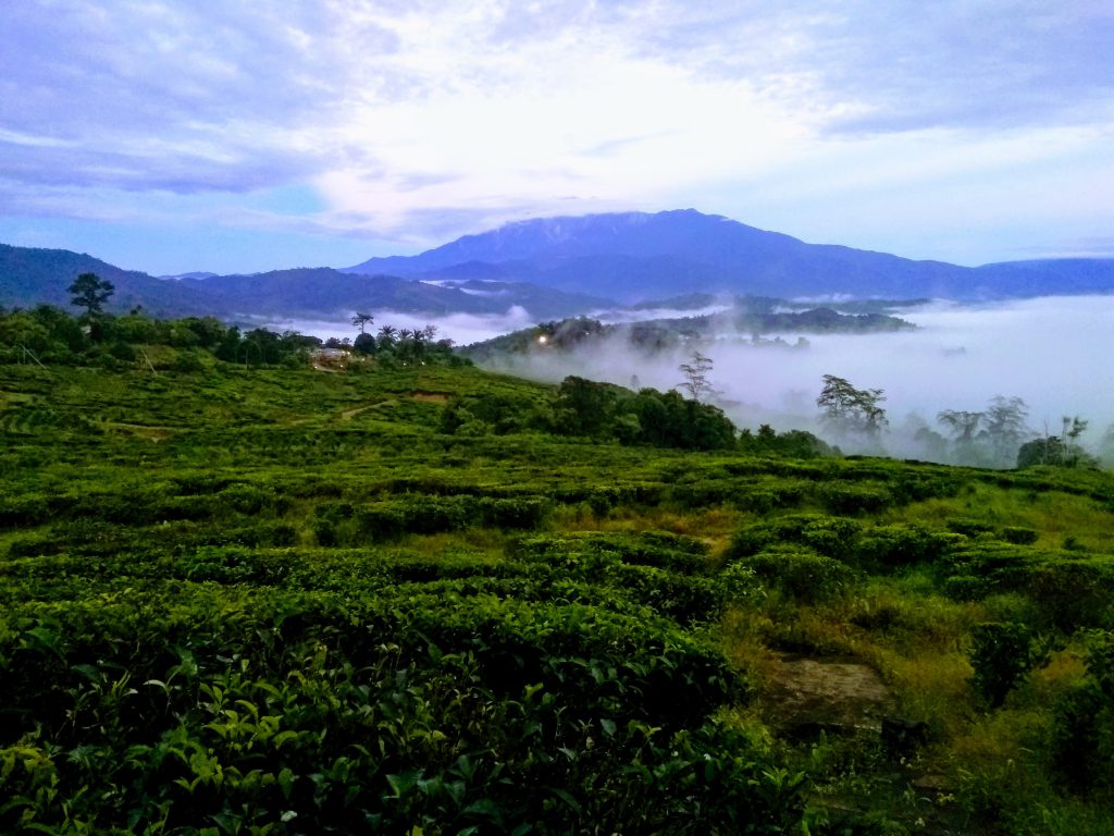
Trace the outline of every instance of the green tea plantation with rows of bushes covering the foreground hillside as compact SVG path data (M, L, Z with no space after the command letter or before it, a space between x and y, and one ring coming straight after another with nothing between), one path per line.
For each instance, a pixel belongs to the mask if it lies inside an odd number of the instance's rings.
M1108 474L144 359L0 366L0 833L1114 832Z

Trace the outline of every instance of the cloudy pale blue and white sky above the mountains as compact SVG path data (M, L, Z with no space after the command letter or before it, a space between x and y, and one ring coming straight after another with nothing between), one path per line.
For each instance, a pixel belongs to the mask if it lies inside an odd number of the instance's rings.
M960 264L1114 256L1110 0L11 0L0 242L346 266L697 208Z

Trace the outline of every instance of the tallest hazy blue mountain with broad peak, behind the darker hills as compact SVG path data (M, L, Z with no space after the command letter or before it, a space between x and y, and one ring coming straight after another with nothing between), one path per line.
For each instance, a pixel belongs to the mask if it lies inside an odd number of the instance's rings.
M345 272L520 281L642 302L694 291L774 297L1003 299L1114 290L1114 260L965 268L807 244L695 210L521 221Z

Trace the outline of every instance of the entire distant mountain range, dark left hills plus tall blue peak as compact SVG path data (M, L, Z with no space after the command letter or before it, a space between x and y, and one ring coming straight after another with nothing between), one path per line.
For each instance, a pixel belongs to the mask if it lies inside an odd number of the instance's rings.
M0 305L65 305L84 272L116 285L115 310L158 315L335 318L361 310L539 320L696 294L995 300L1114 292L1114 260L964 268L807 244L694 210L522 221L419 255L253 275L155 278L66 250L0 244ZM706 298L706 297L705 297Z

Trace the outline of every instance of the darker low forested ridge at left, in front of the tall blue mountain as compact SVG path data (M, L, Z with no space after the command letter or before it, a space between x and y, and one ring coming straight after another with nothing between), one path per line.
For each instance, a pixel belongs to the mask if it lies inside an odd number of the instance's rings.
M182 274L156 279L121 270L68 250L0 244L0 305L67 307L67 288L80 273L96 273L116 286L108 308L143 305L156 315L348 317L352 311L409 313L506 313L520 305L540 319L614 305L612 300L521 283L481 281L432 284L390 275L353 275L331 268L275 270L253 275Z

